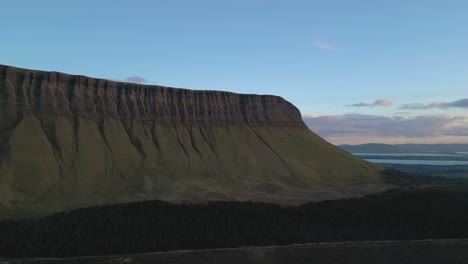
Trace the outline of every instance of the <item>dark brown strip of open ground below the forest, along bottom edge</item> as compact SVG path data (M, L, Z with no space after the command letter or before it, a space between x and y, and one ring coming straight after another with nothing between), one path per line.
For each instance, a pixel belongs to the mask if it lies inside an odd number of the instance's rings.
M468 263L468 240L319 243L283 247L271 246L232 249L185 250L126 256L81 257L69 259L0 260L0 263L461 264Z

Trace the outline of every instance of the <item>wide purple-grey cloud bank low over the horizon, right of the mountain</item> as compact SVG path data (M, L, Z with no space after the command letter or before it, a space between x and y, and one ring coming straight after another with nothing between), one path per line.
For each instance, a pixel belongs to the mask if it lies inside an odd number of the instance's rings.
M468 117L447 115L377 116L362 114L304 116L307 126L333 143L348 141L371 142L370 139L386 138L416 139L434 141L436 138L468 138ZM463 138L461 138L463 137ZM341 141L341 142L339 142Z

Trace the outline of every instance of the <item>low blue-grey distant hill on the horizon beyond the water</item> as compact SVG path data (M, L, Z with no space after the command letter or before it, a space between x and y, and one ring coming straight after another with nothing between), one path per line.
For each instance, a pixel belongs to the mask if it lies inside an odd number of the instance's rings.
M468 152L468 144L379 144L339 145L351 153L418 153L418 152Z

